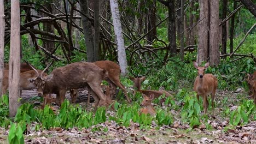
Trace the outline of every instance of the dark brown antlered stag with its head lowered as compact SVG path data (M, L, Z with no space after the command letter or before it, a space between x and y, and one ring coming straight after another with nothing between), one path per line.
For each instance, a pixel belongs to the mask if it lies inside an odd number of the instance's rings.
M31 83L37 86L38 96L46 94L56 94L55 103L61 105L65 100L67 89L78 89L87 87L88 91L95 99L95 112L98 106L108 105L106 95L101 91L100 83L107 79L108 72L97 67L94 63L75 62L63 67L54 69L50 75L42 74L48 69L51 62L40 74L36 71L37 76L30 79Z

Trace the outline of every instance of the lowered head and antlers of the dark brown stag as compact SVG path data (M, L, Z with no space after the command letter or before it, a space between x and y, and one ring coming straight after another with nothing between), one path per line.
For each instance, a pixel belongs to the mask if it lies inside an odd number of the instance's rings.
M30 79L31 83L34 83L34 85L37 86L37 95L38 97L42 97L43 96L43 89L45 88L45 77L43 76L43 73L46 69L48 69L51 64L53 64L53 62L51 62L40 74L38 73L38 71L31 65L28 63L28 65L30 65L30 67L36 71L37 76L35 78Z

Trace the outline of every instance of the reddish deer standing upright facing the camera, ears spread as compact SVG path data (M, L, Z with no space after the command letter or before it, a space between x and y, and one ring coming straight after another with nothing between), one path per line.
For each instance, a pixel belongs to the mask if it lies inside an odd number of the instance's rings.
M196 92L196 98L199 100L199 95L203 98L203 113L207 112L208 100L207 95L211 94L212 97L212 113L214 115L214 97L218 86L217 78L212 74L205 74L205 70L209 67L209 62L205 64L205 67L198 67L196 62L193 62L194 67L197 69L197 77L194 82L194 91Z

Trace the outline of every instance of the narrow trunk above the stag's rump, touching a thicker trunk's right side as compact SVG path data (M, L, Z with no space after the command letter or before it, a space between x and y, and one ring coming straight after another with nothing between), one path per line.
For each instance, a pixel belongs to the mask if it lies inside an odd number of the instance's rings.
M99 60L100 49L100 1L94 0L94 61Z

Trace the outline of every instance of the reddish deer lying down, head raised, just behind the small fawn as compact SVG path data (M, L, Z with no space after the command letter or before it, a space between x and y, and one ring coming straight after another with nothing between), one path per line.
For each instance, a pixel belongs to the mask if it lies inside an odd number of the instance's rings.
M158 98L160 97L160 95L165 94L165 97L172 97L172 95L166 91L160 90L160 91L156 91L156 90L141 90L141 83L146 79L146 77L131 77L129 76L130 80L133 81L133 87L137 90L135 90L135 93L138 91L142 94L146 94L146 95L151 95L154 94L154 98ZM164 99L161 99L160 102L164 102Z

